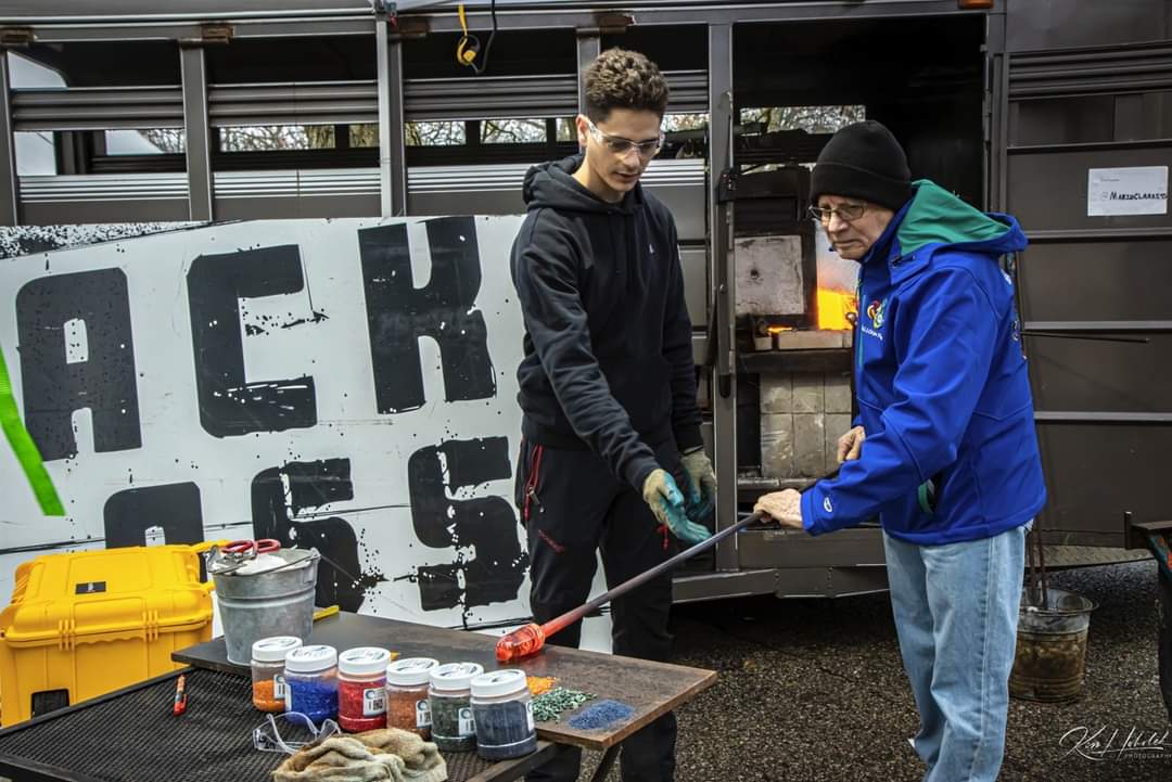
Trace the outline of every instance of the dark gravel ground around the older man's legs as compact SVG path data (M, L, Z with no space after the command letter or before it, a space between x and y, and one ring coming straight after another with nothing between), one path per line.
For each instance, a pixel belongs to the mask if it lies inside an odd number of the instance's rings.
M1172 729L1159 693L1154 562L1051 576L1099 604L1086 686L1070 704L1010 702L1002 782L1168 782L1172 735L1157 756L1070 754L1064 734ZM677 782L919 780L907 743L919 719L886 595L837 601L747 598L680 606L677 661L716 670L679 712ZM598 756L584 763L584 780ZM618 781L618 773L608 777Z

